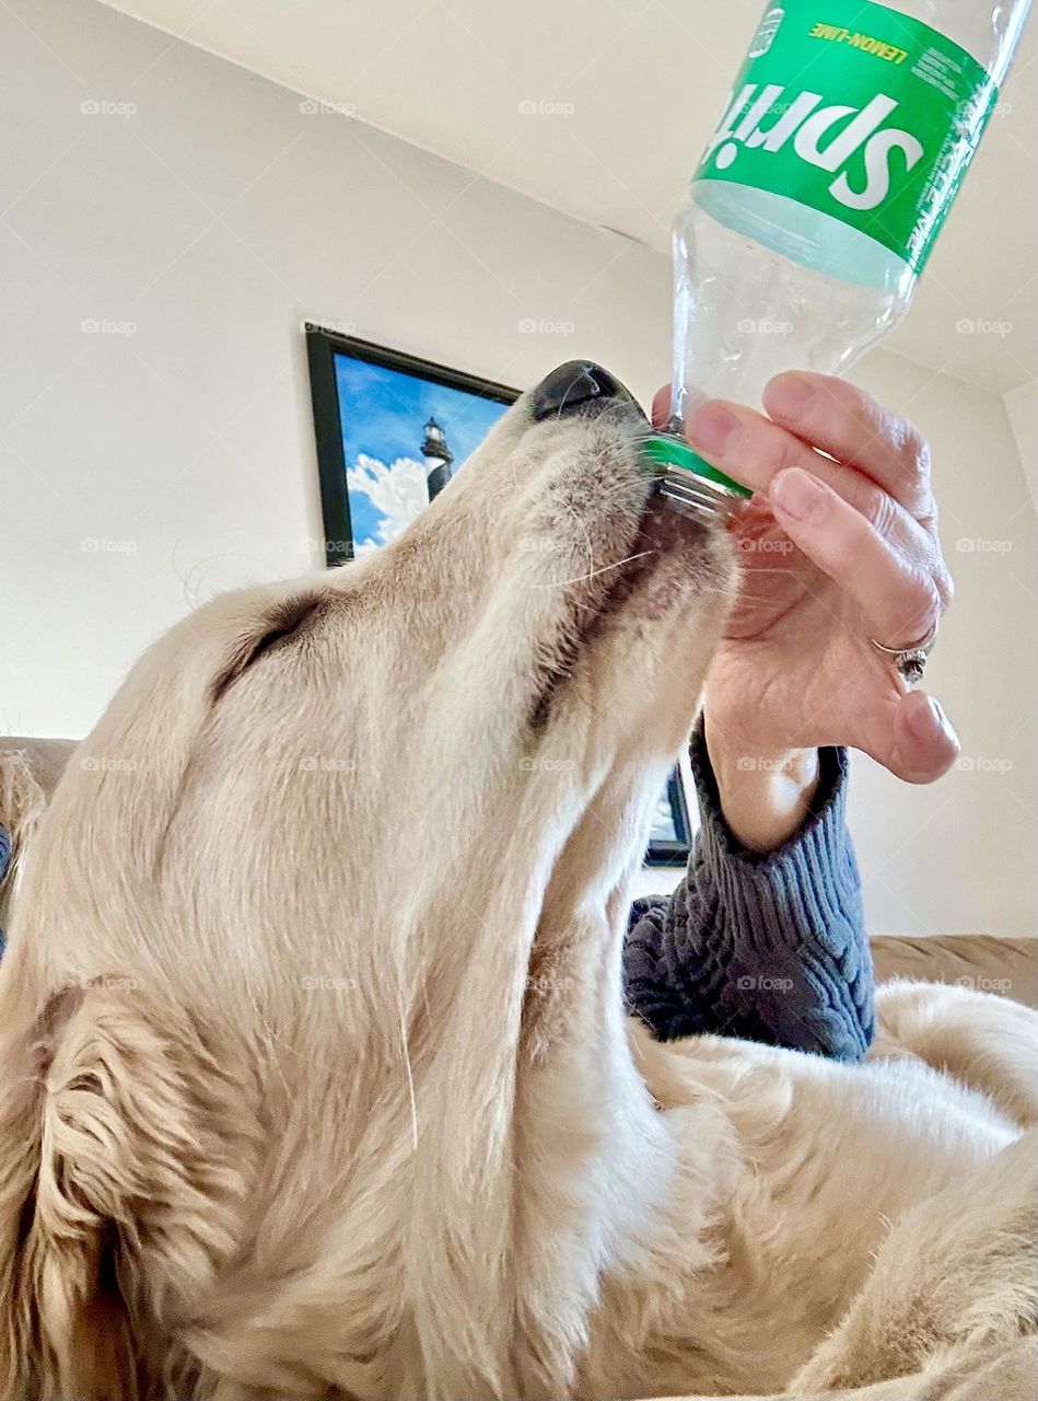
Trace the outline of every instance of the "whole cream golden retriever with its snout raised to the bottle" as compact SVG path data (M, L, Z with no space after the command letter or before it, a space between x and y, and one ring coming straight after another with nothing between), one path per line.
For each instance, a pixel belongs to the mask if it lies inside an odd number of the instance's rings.
M734 551L570 378L388 548L175 626L60 779L0 974L10 1401L1031 1394L1032 1013L895 985L864 1066L626 1016Z

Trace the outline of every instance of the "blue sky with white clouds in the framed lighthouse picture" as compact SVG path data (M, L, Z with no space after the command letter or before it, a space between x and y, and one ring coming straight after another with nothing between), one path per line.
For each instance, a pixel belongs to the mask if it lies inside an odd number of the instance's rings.
M399 535L427 503L420 454L427 419L444 430L457 472L507 405L338 352L335 380L353 549L366 555Z

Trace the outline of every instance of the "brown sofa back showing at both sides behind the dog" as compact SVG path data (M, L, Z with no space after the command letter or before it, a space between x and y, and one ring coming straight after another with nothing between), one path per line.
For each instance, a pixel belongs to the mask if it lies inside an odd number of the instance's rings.
M50 794L76 748L74 740L0 738L0 754L21 752L42 794ZM0 794L1 797L1 794ZM0 820L3 820L0 817ZM880 934L871 940L880 981L897 976L962 982L1038 1007L1038 939L997 934Z

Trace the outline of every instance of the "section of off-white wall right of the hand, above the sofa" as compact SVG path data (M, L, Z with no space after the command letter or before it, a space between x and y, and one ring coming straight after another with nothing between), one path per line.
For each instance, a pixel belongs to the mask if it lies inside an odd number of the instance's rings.
M962 741L932 789L860 758L852 796L870 909L884 929L1034 934L1038 850L1038 525L1003 403L874 356L860 374L929 433L955 601L927 665Z

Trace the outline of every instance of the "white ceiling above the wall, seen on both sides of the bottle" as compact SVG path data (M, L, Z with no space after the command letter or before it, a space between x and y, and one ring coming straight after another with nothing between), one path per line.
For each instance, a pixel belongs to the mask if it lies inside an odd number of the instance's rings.
M674 203L763 6L116 0L115 8L667 251ZM1034 20L916 304L890 342L999 392L1038 374L1037 76ZM524 102L538 111L524 113Z

